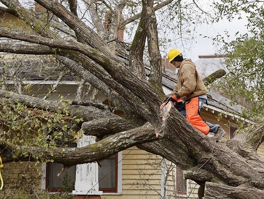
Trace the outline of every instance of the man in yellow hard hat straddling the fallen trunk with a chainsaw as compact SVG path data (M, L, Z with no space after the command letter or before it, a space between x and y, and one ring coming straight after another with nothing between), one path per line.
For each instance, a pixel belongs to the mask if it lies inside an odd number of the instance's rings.
M165 101L172 100L185 104L185 110L180 110L187 120L204 134L215 133L212 139L219 141L226 132L219 126L204 121L200 115L200 109L207 101L207 89L198 74L195 64L190 59L183 59L181 51L171 49L168 60L176 68L179 68L177 86Z

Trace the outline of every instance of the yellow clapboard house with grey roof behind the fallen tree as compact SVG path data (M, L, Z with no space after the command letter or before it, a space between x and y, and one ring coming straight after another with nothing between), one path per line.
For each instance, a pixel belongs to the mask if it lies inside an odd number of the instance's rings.
M121 53L120 59L126 62L126 53ZM75 98L78 79L72 74L66 73L59 82L56 81L59 75L48 78L50 72L61 71L61 67L54 62L52 57L2 53L0 54L0 67L4 63L10 66L8 68L10 71L12 68L23 67L23 70L16 74L20 81L16 83L5 80L6 87L15 87L22 91L25 86L31 85L31 91L43 97L47 94L48 88L58 84L56 91L54 90L48 97L49 100L58 99L59 94L65 96L66 100ZM34 70L32 70L32 65L34 65ZM146 72L149 73L147 66ZM162 81L164 92L170 93L176 85L176 73L164 69ZM96 91L89 89L89 85L85 85L84 93L87 93L86 99L93 99ZM94 100L100 103L108 102L107 97L100 92L95 95ZM204 105L201 116L224 128L227 135L222 140L225 141L231 138L236 130L236 122L240 119L241 109L239 105L231 105L229 99L210 90L208 105ZM82 146L93 141L92 138L86 137L78 145ZM259 148L258 154L264 158L264 144ZM4 165L6 169L3 172L5 190L0 194L5 197L11 196L10 198L23 194L44 198L47 193L42 191L46 190L51 193L69 192L76 196L79 195L79 198L88 196L90 199L99 198L98 196L101 199L197 198L198 185L191 180L184 180L180 168L159 155L132 147L101 161L100 164L101 167L97 163L73 166L57 177L62 168L61 164L8 163ZM65 195L65 197L71 196Z

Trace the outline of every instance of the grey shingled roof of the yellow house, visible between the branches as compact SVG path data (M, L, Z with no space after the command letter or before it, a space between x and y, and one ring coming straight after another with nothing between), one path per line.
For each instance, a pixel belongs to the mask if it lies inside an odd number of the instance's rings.
M22 59L20 56L23 56ZM20 73L17 74L17 77L24 80L24 84L28 84L27 82L35 81L36 84L39 81L41 84L45 84L43 81L47 81L46 84L53 84L56 82L56 79L59 77L59 72L62 68L55 62L55 59L52 59L47 56L39 56L39 59L36 59L36 56L24 56L24 55L16 55L16 59L11 59L10 57L6 59L6 63L10 65L12 68L21 67L19 70ZM123 61L125 64L128 64L128 54L127 52L119 51L118 55L119 59ZM19 59L19 61L18 61ZM212 60L209 60L209 63L212 63ZM219 62L219 61L218 61ZM0 62L0 67L4 64ZM33 67L32 67L33 66ZM45 66L45 67L43 67ZM150 74L149 64L145 62L145 69L147 76ZM5 70L10 70L10 68L6 68ZM18 71L18 70L17 70ZM50 76L52 74L52 76ZM56 76L57 75L57 76ZM176 72L165 69L162 73L162 85L165 94L169 94L176 86L177 74ZM53 82L54 81L54 82ZM53 83L52 83L53 82ZM71 73L63 77L61 84L72 84L72 82L76 82L75 76ZM240 116L242 113L242 106L232 104L231 100L228 98L218 94L217 92L210 90L207 93L208 96L208 105L204 105L205 109L214 110L218 112L224 112L226 115L236 115Z

